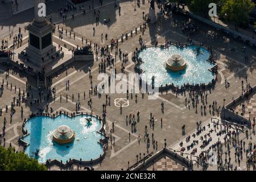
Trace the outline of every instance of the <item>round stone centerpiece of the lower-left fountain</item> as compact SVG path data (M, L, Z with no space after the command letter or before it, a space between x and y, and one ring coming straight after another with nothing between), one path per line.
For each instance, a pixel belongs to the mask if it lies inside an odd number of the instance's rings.
M71 143L75 139L75 132L68 126L61 125L53 131L52 139L59 144Z

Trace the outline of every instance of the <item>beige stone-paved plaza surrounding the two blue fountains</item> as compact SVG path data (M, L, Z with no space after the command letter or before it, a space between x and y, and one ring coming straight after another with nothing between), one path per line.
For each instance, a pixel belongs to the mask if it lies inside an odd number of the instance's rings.
M50 2L51 3L51 2ZM52 108L53 113L68 112L73 113L76 111L76 104L80 104L81 108L79 112L83 113L93 113L93 115L102 116L102 104L106 104L106 124L105 130L108 136L114 137L114 142L109 141L108 151L104 159L100 163L93 164L95 170L126 170L131 165L137 163L138 158L142 159L144 155L150 153L155 154L165 146L167 143L167 148L172 151L176 151L177 154L184 156L188 160L193 161L193 169L202 170L204 168L203 164L198 162L199 154L208 150L212 147L212 144L222 141L224 143L225 134L217 135L225 127L230 125L231 132L239 131L239 140L245 141L245 146L247 147L249 142L256 142L254 128L247 129L240 126L234 125L232 122L223 122L220 118L220 111L224 104L233 101L242 93L241 81L246 80L251 86L256 85L256 56L255 49L246 46L246 50L242 51L241 48L245 46L245 43L238 42L232 38L229 38L221 31L216 30L207 24L201 23L195 19L190 19L189 16L181 14L172 14L171 16L163 16L158 18L155 24L148 23L146 28L142 31L139 29L143 25L143 12L148 13L150 7L149 1L141 1L140 5L135 5L133 1L104 1L103 5L100 5L99 1L96 1L94 8L96 11L100 11L100 21L96 24L96 15L92 9L89 10L89 5L91 2L85 2L86 14L82 11L77 10L75 13L68 12L69 18L67 20L62 20L59 12L56 9L52 9L52 15L47 15L47 19L52 16L53 22L56 22L56 31L53 34L53 43L59 50L58 46L63 47L65 55L69 58L72 57L72 49L77 46L85 46L85 42L92 44L92 50L94 53L94 61L92 62L81 62L75 61L69 64L67 67L60 69L51 76L51 89L55 89L55 99L49 101L46 99L46 92L40 93L37 89L37 78L27 73L20 72L18 69L11 65L0 65L0 82L3 85L3 93L0 97L0 108L2 108L2 114L0 116L0 128L4 127L4 118L6 118L5 125L5 142L1 138L1 146L9 147L10 144L15 148L15 150L23 150L23 147L19 145L18 138L22 136L22 124L24 118L29 118L33 114L39 113L39 106L46 106ZM114 7L114 3L117 7ZM120 13L118 11L118 6L121 7ZM64 5L63 5L64 7ZM79 7L79 6L78 6ZM155 4L156 14L160 11L159 7ZM0 23L2 26L3 34L0 34L0 39L9 40L9 48L13 44L12 40L15 34L18 34L18 27L21 28L23 34L23 43L21 47L15 47L14 52L16 55L14 59L18 61L18 53L26 48L28 44L28 31L24 30L24 26L27 26L28 22L31 22L30 14L31 10L24 11L22 14L27 17L21 17L23 19L22 23L15 22L17 20L12 20L15 26ZM72 19L72 14L75 14L75 18ZM15 15L16 16L16 15ZM109 23L104 23L104 19L110 18ZM183 34L182 28L184 23L191 20L198 27L195 34L187 35ZM63 38L59 37L59 30L63 28ZM135 28L138 28L137 34L135 33ZM93 35L93 28L95 28L95 34ZM0 30L1 31L1 30ZM67 35L65 34L67 31ZM131 31L133 35L131 35ZM7 33L8 32L8 33ZM70 34L71 32L71 34ZM9 38L11 34L11 38ZM75 34L75 36L74 36ZM108 38L105 35L108 34ZM127 34L127 40L124 38L121 41L121 36ZM103 38L101 36L103 35ZM136 48L140 48L139 37L142 37L143 44L146 46L151 46L155 38L158 40L158 45L166 44L167 41L172 43L186 43L188 36L193 40L194 43L203 43L205 47L212 47L212 57L216 60L218 65L217 82L210 90L204 92L208 94L207 100L203 101L199 98L198 107L193 104L188 104L187 101L190 100L192 103L192 96L189 92L185 91L183 93L176 94L172 90L168 92L159 93L159 96L155 100L148 100L148 94L117 94L109 93L109 100L106 101L106 94L102 94L101 97L98 94L90 94L91 85L93 88L99 84L97 77L99 75L98 65L101 63L101 59L105 59L100 53L96 55L95 45L99 47L110 46L110 41L112 39L118 40L118 49L122 53L127 53L128 60L124 61L123 57L115 59L113 68L116 68L117 73L121 73L122 65L125 67L125 74L128 76L129 73L134 73L134 62L132 57ZM64 48L65 47L65 48ZM235 51L230 51L230 49L235 48ZM13 49L13 48L10 48ZM110 51L111 55L115 57L115 50ZM249 57L249 60L245 61L245 56ZM52 65L51 65L52 66ZM9 71L7 71L9 68ZM110 67L106 68L106 73L110 74ZM67 81L69 81L69 88L67 89ZM116 81L116 84L119 81ZM229 82L227 86L226 82ZM24 96L27 93L28 102L15 101L15 113L10 118L11 105L14 100L18 99L19 92ZM39 96L40 93L40 96ZM256 114L256 96L250 98L250 100L245 102L245 109L242 109L242 104L236 107L235 112L243 114L243 117L253 120ZM36 102L36 100L40 100ZM89 100L92 100L92 105L88 104ZM30 104L35 101L35 104ZM215 102L216 101L216 102ZM213 102L215 102L216 109L213 109ZM225 102L225 103L224 103ZM120 103L122 103L122 111L120 110ZM164 109L162 105L164 104ZM212 108L209 106L212 105ZM202 107L201 107L202 106ZM200 110L200 107L205 110ZM7 109L6 109L7 108ZM23 115L21 116L21 108L23 110ZM164 110L164 111L163 111ZM139 117L137 113L139 111ZM250 111L250 114L249 114ZM154 126L151 127L151 113L154 116ZM135 128L130 122L127 122L126 116L135 115L135 121L137 121ZM162 121L162 122L161 122ZM114 123L114 131L110 134L110 130L113 129L112 125ZM197 127L197 123L201 123L200 127ZM218 123L218 125L216 124ZM209 125L208 125L209 124ZM185 125L185 131L182 132L182 128ZM217 126L216 126L217 125ZM154 140L157 144L150 142L149 147L144 140L145 126L147 126L147 134L149 138L154 135ZM196 132L205 126L205 130L199 135ZM216 128L215 128L216 127ZM246 135L245 131L249 131L249 135ZM2 130L1 130L2 132ZM195 137L192 135L195 134ZM209 135L208 135L209 134ZM200 148L203 145L203 140L201 137L208 140L211 138L210 144ZM187 137L191 139L187 142ZM139 142L138 138L141 138ZM197 140L197 142L193 142ZM241 167L246 170L246 148L243 147L243 159L241 164L238 164L238 158L234 156L236 144L232 143L230 139L230 160L233 164L233 169L235 167ZM183 142L183 145L180 143ZM187 148L192 143L193 147ZM185 150L181 151L184 147ZM192 152L194 148L197 151ZM217 151L217 150L216 150ZM225 152L228 151L228 147L223 146L221 148L221 157L225 161ZM139 157L138 157L138 156ZM79 160L79 159L78 159ZM225 163L225 162L224 162ZM90 165L88 165L90 167ZM225 165L224 165L225 166ZM51 170L60 170L59 166L52 166ZM83 170L84 167L74 166L73 170ZM205 169L205 168L204 168ZM207 167L208 170L220 170L217 164L212 164ZM65 170L65 169L63 169ZM158 170L158 171L180 171L187 170L183 167L183 164L175 161L174 159L165 156L155 164L148 167L147 170ZM228 168L225 168L228 170ZM253 170L253 167L250 168Z

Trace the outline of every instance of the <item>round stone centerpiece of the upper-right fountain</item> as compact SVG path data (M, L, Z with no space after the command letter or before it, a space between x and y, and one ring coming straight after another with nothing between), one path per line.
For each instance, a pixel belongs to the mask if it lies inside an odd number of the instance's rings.
M186 61L179 54L172 55L166 61L166 67L174 72L181 71L181 70L185 69L186 65L187 65Z

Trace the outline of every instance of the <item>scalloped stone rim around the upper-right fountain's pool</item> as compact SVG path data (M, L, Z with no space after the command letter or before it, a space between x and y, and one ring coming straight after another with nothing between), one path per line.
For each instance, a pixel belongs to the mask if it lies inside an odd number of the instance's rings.
M197 45L197 44L185 45L185 46L177 46L177 44L175 44L175 43L170 43L169 46L167 46L167 47L162 47L162 48L163 48L163 49L167 49L167 48L169 48L169 47L171 47L171 46L176 46L176 47L178 47L178 48L185 48L185 47L190 47L190 46L196 46L196 47L204 48L204 49L206 49L206 50L208 51L208 49L207 49L205 46L200 46L200 45ZM139 53L141 53L142 51L144 51L144 49L150 48L150 47L155 47L155 48L158 47L158 48L161 48L161 46L159 46L159 45L156 45L156 46L154 46L154 45L145 46L145 48L139 49L139 51L137 52L137 55L138 55ZM212 59L212 53L211 53L210 51L208 51L208 52L209 52L209 55L210 55L210 56L209 56L209 58L208 58L207 60L205 60L205 61L208 61L209 63L212 63L212 62L210 61L210 59ZM212 71L212 68L216 67L216 66L217 66L217 63L212 63L212 64L214 64L213 67L209 68L208 70L209 70L211 73L213 73L213 75L214 75L213 80L216 81L216 80L217 80L217 75L214 74L214 72ZM212 82L209 82L208 84L205 84L205 86L208 86L208 85L211 84L211 83L212 83ZM150 84L150 85L151 85L151 84ZM169 84L167 84L167 86L166 86L166 85L163 85L163 86L155 87L155 88L158 88L159 90L160 90L160 88L161 88L161 89L170 90L171 88L168 88L168 87L170 87L170 86L172 86L172 85L173 85L174 89L180 89L181 86L183 86L183 85L181 85L180 87L177 87L177 86L174 85L174 83L169 83ZM185 84L185 85L186 85L186 86L195 86L195 85L192 85L192 84ZM152 85L151 85L151 86L152 86ZM158 90L158 93L160 92L159 90Z

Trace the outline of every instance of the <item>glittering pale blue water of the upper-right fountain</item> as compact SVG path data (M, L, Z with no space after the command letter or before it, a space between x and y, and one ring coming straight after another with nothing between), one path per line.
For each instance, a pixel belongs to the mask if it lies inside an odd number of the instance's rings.
M200 54L197 54L196 48L200 48ZM183 71L172 72L166 68L166 61L174 54L180 54L187 62L187 68ZM141 51L138 55L144 63L141 68L142 80L152 83L152 76L155 76L155 85L174 84L208 84L214 78L214 74L209 71L209 68L214 64L207 61L210 53L207 49L197 46L188 46L179 48L170 46L167 49L159 47L148 47Z

